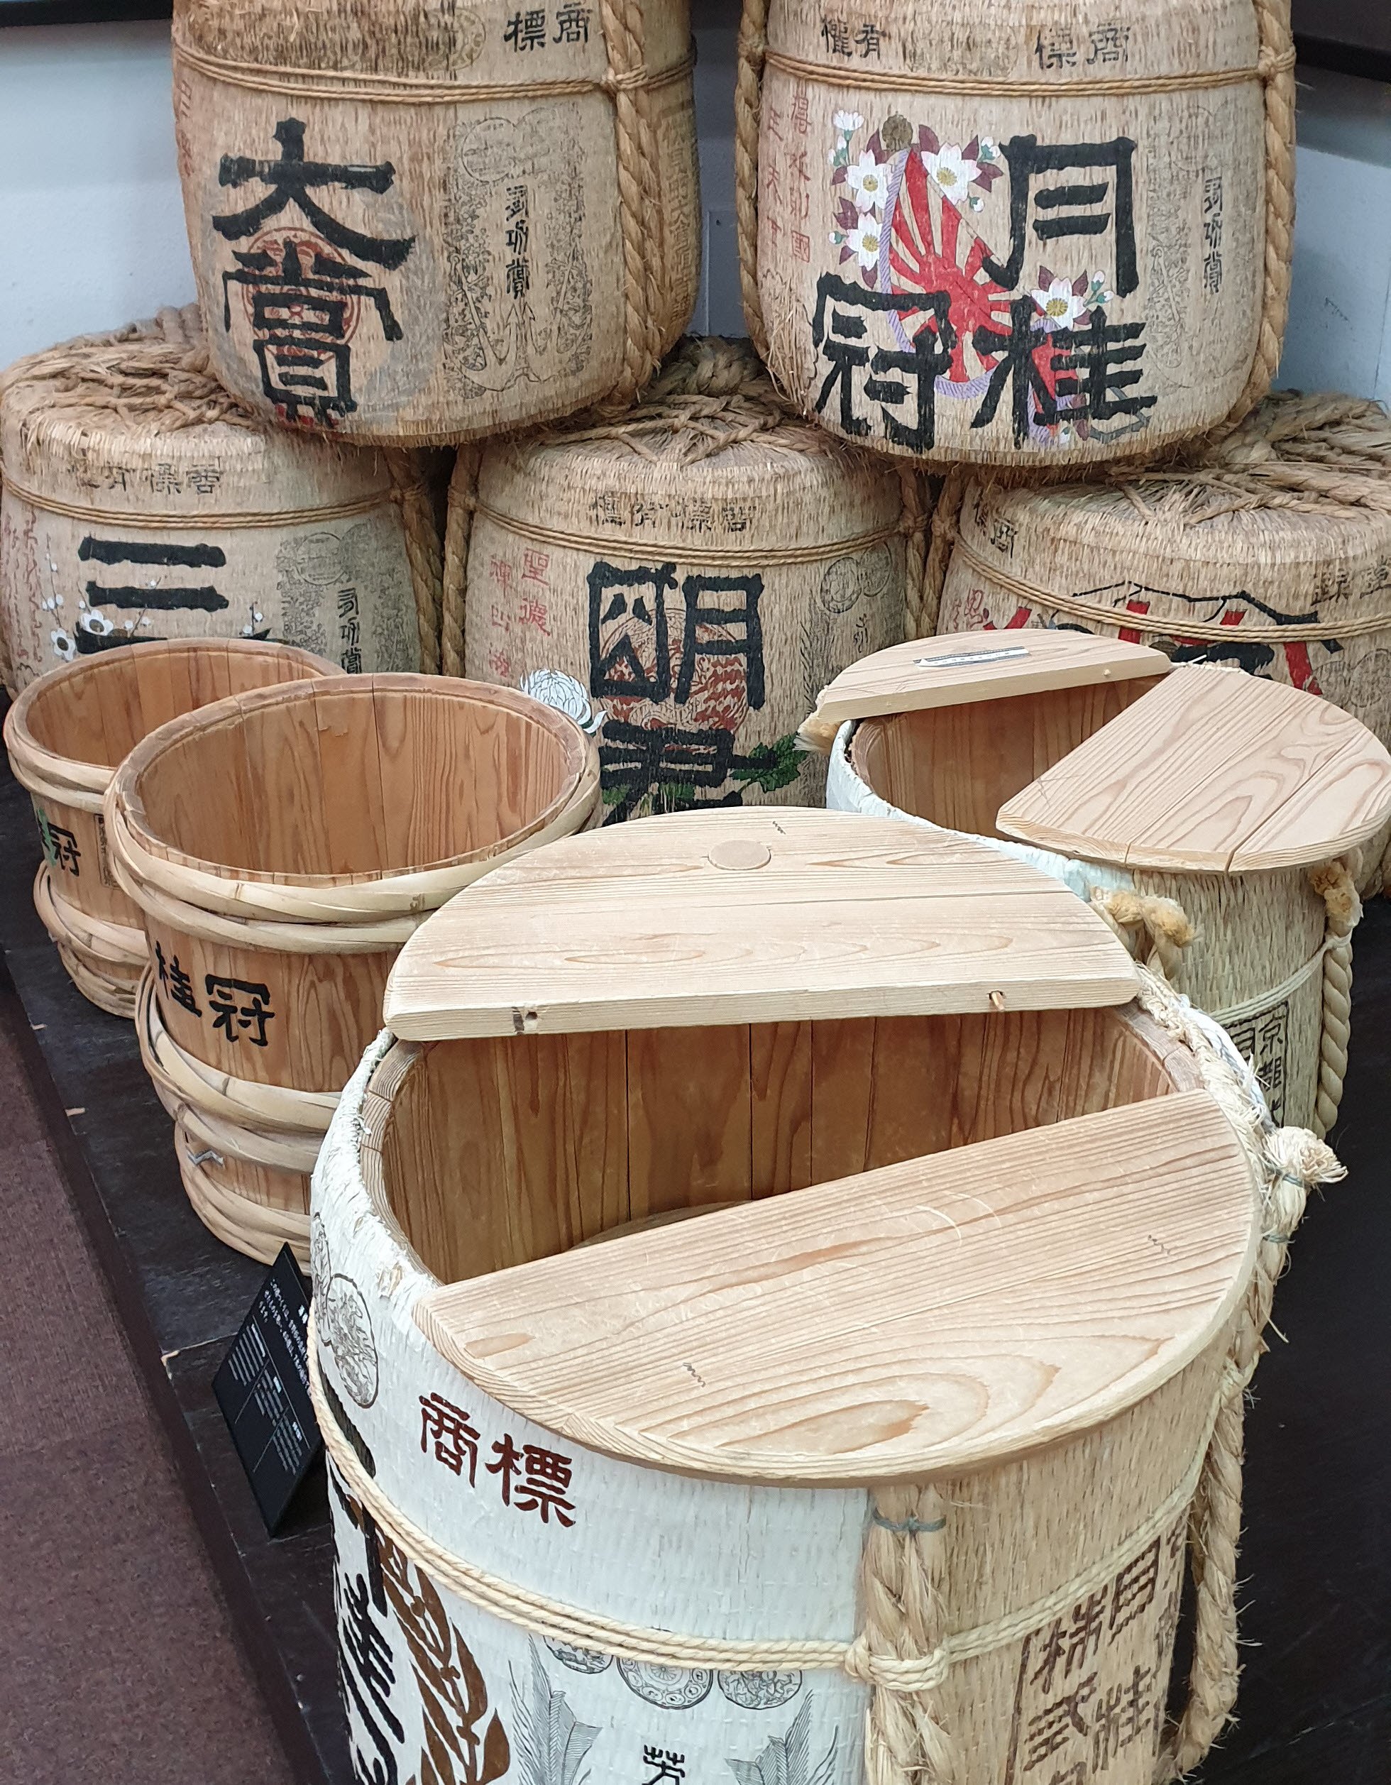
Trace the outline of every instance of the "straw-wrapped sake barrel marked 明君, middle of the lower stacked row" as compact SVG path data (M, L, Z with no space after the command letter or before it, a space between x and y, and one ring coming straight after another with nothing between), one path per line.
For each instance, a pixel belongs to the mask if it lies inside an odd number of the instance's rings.
M905 502L891 471L789 414L746 343L720 339L686 343L629 418L496 441L477 491L466 455L461 478L471 532L466 569L450 553L445 660L462 632L468 675L602 726L607 821L820 803L796 726L916 614L911 480Z

